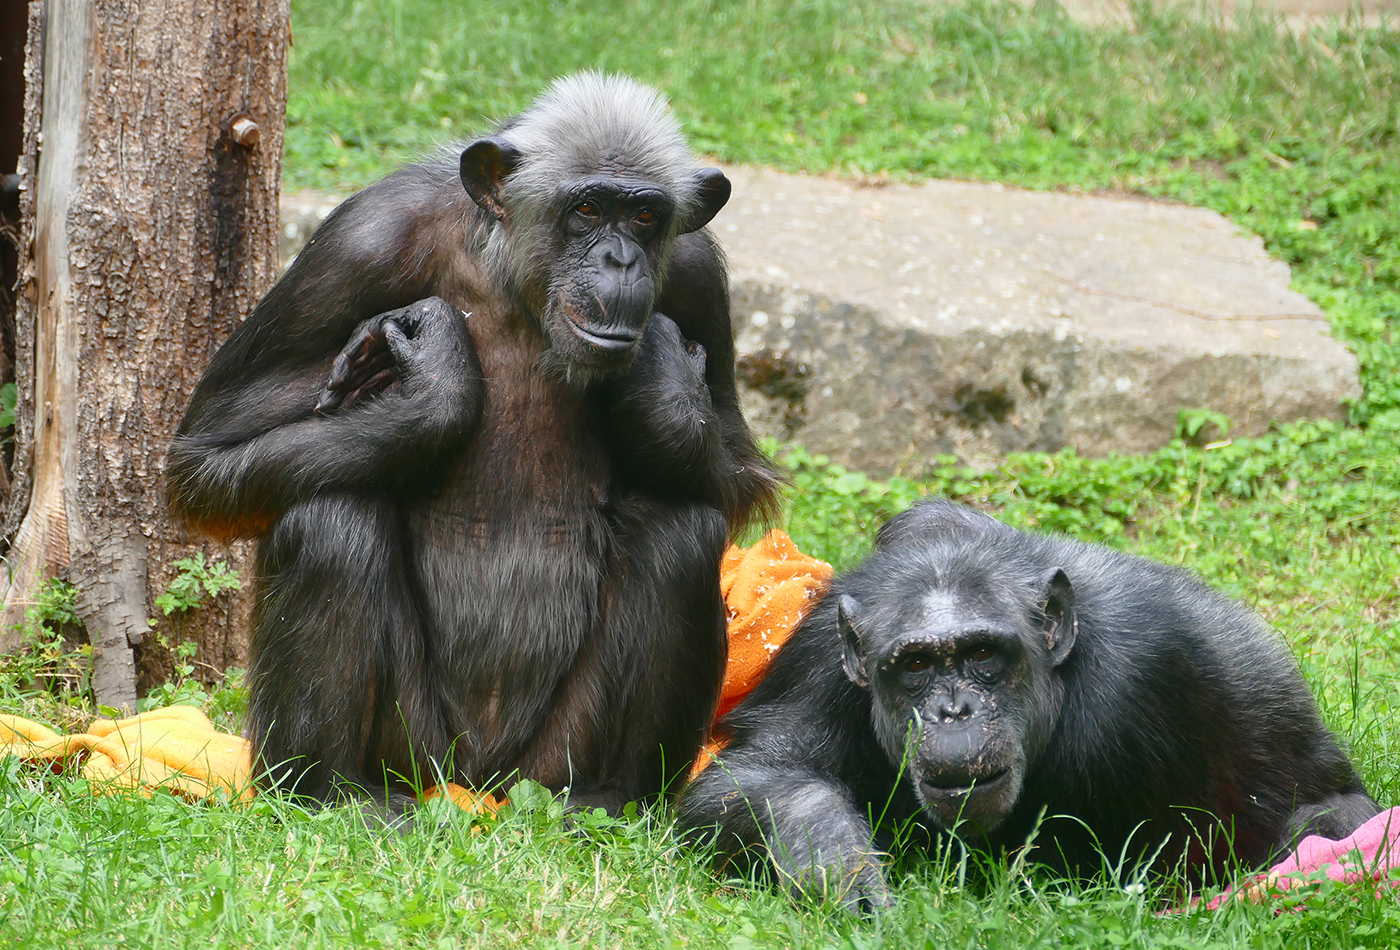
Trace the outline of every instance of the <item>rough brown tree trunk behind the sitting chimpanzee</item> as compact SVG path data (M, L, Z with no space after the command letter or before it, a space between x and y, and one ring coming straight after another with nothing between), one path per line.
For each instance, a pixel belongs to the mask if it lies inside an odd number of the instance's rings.
M245 546L192 546L171 523L165 452L277 273L287 38L287 0L31 3L3 623L63 574L105 705L134 708L137 659L161 673L148 618L174 560L204 550L249 574ZM245 590L182 634L221 670L245 656L246 618Z

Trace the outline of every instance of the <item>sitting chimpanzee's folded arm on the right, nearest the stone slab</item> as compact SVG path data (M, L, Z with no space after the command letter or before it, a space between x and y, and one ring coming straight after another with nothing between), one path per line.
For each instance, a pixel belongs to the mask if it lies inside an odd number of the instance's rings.
M662 495L699 495L738 526L770 513L780 477L739 411L714 239L682 235L666 274L636 362L609 386L608 437L624 477Z

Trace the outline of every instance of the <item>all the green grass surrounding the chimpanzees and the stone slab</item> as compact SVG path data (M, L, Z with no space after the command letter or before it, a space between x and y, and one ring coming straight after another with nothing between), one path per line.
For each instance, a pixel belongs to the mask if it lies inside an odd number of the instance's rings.
M774 446L785 525L837 567L923 494L1201 572L1294 645L1327 722L1400 802L1400 36L1336 22L1296 38L1135 11L1089 29L1058 7L983 1L624 4L297 0L287 187L349 192L598 66L664 88L701 150L792 171L955 176L1204 204L1260 234L1358 354L1347 425L1198 446L1208 414L1149 456L930 460L875 481ZM36 637L0 707L59 665ZM46 652L45 652L46 651ZM15 660L18 663L18 660ZM64 666L50 683L81 681ZM62 691L62 690L60 690ZM238 688L162 695L224 716ZM225 719L227 721L227 719ZM566 827L539 796L498 821L441 813L407 837L351 810L234 810L95 797L0 767L0 936L17 946L1389 947L1400 904L1329 891L1303 914L1161 915L1156 886L1064 884L952 855L902 866L878 919L715 880L665 813ZM970 873L969 873L970 872Z

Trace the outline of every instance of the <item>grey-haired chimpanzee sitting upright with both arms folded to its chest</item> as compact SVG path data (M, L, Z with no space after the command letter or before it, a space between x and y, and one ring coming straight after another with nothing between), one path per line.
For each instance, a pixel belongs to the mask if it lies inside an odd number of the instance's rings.
M399 779L519 777L617 809L685 772L720 555L777 484L701 231L728 196L657 92L568 77L350 197L228 339L169 491L260 536L265 782L399 806Z

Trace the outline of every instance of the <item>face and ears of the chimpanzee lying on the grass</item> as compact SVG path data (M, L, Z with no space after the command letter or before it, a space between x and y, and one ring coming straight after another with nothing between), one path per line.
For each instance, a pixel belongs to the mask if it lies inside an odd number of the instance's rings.
M939 825L986 834L1011 813L1058 718L1051 670L1074 645L1074 595L1058 569L1033 597L974 593L925 589L897 611L843 596L837 616L846 673L871 691L890 761ZM1018 600L1026 609L1008 611Z

